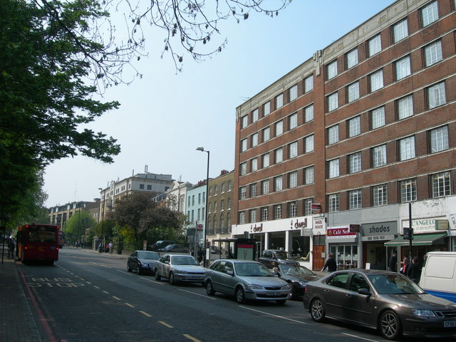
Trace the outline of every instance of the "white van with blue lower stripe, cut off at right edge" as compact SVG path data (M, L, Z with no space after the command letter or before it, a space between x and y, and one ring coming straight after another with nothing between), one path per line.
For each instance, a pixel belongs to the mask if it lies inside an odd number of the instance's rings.
M456 252L427 253L420 286L429 294L456 303Z

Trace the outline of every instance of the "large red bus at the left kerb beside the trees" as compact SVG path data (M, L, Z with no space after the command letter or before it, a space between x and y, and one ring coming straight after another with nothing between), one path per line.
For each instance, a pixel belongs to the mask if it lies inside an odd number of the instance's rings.
M22 263L43 261L53 264L58 260L59 227L52 224L25 224L17 227L16 254Z

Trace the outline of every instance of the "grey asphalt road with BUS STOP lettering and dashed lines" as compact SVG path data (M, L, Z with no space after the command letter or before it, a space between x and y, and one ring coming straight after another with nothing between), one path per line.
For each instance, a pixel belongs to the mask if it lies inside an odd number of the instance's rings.
M239 305L81 249L61 249L55 266L21 265L20 275L43 342L385 341L375 331L315 323L301 301Z

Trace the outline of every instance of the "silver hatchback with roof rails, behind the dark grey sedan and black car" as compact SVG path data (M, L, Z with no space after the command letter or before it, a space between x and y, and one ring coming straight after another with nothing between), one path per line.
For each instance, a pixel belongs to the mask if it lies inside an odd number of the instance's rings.
M247 299L284 304L291 286L258 261L219 259L207 269L204 283L208 296L222 292L234 296L239 304Z

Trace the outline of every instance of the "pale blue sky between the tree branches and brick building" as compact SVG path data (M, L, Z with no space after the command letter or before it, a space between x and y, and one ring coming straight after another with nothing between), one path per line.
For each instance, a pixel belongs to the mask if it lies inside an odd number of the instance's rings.
M145 32L149 56L135 64L143 74L130 86L108 89L106 100L120 109L90 125L122 147L113 164L88 157L57 160L46 168L48 207L92 201L99 187L148 171L196 183L234 169L235 110L315 51L362 24L394 0L294 0L271 19L252 13L247 21L222 24L226 48L197 63L184 56L181 73L171 58L160 58L163 36Z

